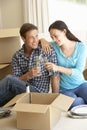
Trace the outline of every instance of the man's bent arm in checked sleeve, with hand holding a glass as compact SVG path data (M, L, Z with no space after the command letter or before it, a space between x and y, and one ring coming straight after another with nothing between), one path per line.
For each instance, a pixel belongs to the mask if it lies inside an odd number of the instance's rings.
M19 79L27 81L33 77L40 76L40 69L38 67L33 67L30 70L27 68L27 63L22 64L21 57L18 54L14 54L12 58L12 72L15 76L19 77ZM22 64L22 67L21 67Z

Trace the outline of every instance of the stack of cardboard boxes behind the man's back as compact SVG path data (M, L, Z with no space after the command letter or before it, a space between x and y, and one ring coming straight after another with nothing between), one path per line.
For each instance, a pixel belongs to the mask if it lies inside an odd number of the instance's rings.
M19 28L0 30L0 79L11 73L12 56L20 47Z

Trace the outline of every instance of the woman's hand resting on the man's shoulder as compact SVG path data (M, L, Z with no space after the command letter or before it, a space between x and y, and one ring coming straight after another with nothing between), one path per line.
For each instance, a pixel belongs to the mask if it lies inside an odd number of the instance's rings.
M42 50L46 54L50 53L50 51L51 51L51 45L50 45L50 43L47 40L45 40L44 38L41 38L40 42L41 42Z

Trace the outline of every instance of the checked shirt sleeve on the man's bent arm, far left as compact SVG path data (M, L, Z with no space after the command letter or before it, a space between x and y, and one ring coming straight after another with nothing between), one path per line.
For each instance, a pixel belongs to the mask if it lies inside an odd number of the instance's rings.
M22 71L19 65L19 59L20 58L17 54L14 54L12 57L12 73L18 77L22 75Z

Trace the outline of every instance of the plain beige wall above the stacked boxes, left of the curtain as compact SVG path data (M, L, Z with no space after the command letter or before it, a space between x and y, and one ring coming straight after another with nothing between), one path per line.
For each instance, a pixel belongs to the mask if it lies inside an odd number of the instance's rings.
M0 28L16 28L23 24L22 0L0 0Z

